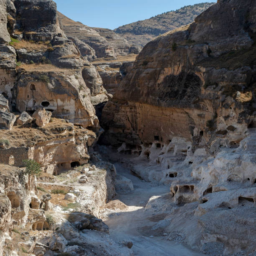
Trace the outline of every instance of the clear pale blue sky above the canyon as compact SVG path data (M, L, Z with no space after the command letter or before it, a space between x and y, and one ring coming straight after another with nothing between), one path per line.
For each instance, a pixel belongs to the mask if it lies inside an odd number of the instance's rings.
M118 28L157 14L177 10L205 0L54 0L59 12L84 25ZM212 0L210 2L217 2Z

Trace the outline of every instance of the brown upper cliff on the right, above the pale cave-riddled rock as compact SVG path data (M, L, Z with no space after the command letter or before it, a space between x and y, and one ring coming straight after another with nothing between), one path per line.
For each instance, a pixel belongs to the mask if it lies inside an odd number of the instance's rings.
M103 109L105 143L241 141L255 126L255 7L218 1L148 43Z

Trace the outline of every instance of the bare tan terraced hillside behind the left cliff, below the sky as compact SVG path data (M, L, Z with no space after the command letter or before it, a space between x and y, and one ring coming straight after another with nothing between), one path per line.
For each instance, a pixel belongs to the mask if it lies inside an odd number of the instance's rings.
M131 45L125 38L107 28L91 28L59 13L65 34L91 46L97 58L117 57L130 53L138 54L140 48ZM79 45L78 45L79 47Z

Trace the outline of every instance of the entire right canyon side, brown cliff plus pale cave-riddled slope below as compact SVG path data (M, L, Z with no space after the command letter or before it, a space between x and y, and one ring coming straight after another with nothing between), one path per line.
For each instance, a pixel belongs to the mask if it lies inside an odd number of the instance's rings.
M255 41L256 2L219 0L148 43L102 112L102 143L138 155L143 179L171 185L179 207L164 230L211 255L252 252L256 239Z

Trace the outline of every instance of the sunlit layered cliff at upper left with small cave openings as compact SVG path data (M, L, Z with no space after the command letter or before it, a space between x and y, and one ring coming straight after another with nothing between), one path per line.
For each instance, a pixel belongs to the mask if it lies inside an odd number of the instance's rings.
M95 67L87 61L95 52L82 42L78 48L76 40L66 37L56 3L2 1L0 10L5 27L1 30L0 94L8 98L10 110L45 108L55 117L97 129L91 96L98 102L108 101L108 96Z

